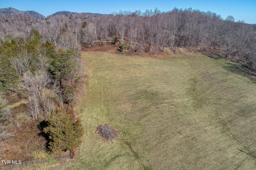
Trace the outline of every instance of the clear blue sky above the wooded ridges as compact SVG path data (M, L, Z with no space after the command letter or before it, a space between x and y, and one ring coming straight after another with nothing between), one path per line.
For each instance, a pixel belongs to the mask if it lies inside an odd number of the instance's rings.
M166 12L174 7L191 7L204 12L215 12L223 19L232 15L235 21L256 23L256 0L0 0L0 8L8 7L33 10L44 16L58 11L111 14L120 10L145 12L146 9L158 8Z

